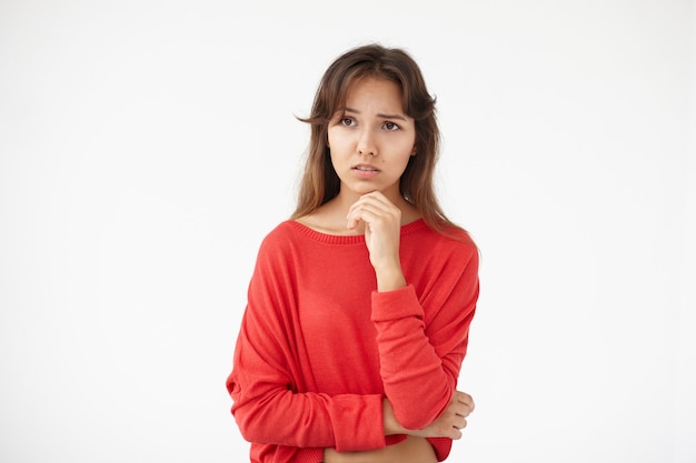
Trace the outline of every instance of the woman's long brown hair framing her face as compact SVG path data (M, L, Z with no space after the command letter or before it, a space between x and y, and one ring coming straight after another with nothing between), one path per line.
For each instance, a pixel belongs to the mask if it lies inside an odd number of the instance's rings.
M307 215L338 195L340 180L331 164L328 125L336 112L345 108L351 85L366 77L389 80L401 89L404 111L416 124L416 155L409 158L401 174L401 195L430 228L450 234L447 231L451 232L456 225L444 214L432 185L440 147L435 98L428 93L420 69L408 53L379 44L358 47L336 59L321 78L311 114L298 118L311 125L311 135L297 209L291 218Z

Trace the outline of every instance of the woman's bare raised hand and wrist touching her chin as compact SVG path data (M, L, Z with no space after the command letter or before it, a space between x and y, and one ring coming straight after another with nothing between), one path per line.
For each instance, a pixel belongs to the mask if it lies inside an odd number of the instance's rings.
M378 191L367 193L348 210L346 227L354 230L360 221L365 222L365 243L377 274L378 291L405 286L399 259L400 209Z

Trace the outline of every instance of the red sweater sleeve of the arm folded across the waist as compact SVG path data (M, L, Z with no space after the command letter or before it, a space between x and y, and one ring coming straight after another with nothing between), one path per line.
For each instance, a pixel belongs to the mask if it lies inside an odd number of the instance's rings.
M308 392L311 379L302 374L308 360L297 349L301 333L291 310L291 272L284 270L275 251L264 245L259 251L227 380L242 436L257 444L297 447L291 451L305 456L296 454L292 461L302 462L321 461L324 447L384 447L380 394Z

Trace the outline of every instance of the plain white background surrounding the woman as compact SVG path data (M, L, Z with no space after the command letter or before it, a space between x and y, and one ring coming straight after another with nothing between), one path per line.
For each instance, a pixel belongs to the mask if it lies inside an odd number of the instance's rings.
M0 460L243 462L246 288L325 68L402 47L481 249L449 461L696 461L692 1L0 2Z

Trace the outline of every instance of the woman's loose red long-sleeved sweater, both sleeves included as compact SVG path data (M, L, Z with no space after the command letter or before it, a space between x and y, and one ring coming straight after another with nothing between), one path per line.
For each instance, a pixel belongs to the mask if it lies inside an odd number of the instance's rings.
M422 220L401 228L408 285L377 292L365 236L286 221L261 243L227 389L251 462L380 449L382 397L406 429L447 407L478 298L478 252ZM451 441L430 439L438 461Z

